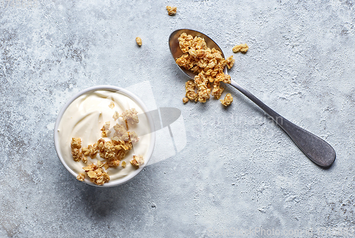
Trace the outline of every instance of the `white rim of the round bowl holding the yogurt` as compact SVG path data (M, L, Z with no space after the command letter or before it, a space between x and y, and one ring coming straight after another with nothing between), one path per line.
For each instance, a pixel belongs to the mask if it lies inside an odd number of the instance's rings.
M86 89L84 89L80 92L77 92L76 94L74 94L74 96L72 96L69 100L67 100L67 102L64 104L62 109L60 109L60 112L58 113L57 120L55 121L54 144L55 144L55 151L57 152L60 162L62 162L62 165L67 169L67 171L69 171L72 175L74 175L75 178L77 178L77 173L75 173L75 171L73 171L72 168L70 168L67 165L67 163L65 163L64 159L62 158L62 154L60 153L58 127L59 127L60 120L62 119L62 116L63 116L65 110L67 109L67 107L69 107L69 105L75 99L82 96L82 94L85 94L87 92L97 91L97 90L109 90L109 91L116 91L116 92L120 92L122 94L126 94L126 96L131 97L131 99L133 99L133 101L135 101L139 105L139 107L141 107L141 109L143 109L143 112L148 112L148 108L146 107L146 104L144 104L141 101L141 99L138 96L136 96L136 94L133 94L132 92L129 92L129 90L125 90L124 88L113 86L113 85L98 85L98 86L93 86L93 87L87 87ZM152 156L153 150L154 150L154 146L155 146L155 127L154 127L154 123L153 123L153 119L151 117L151 114L146 113L146 117L149 122L149 127L151 128L151 144L149 145L148 153L145 158L146 163L144 163L143 166L137 168L136 171L134 171L133 173L130 173L129 175L124 176L124 178L115 180L114 182L111 182L111 183L109 182L109 183L104 183L104 185L96 185L92 182L89 182L89 180L87 180L87 178L83 181L84 183L86 183L88 185L100 187L100 188L109 188L109 187L114 187L117 185L122 185L124 183L127 183L132 178L134 178L136 175L138 175L138 173L140 173L143 170L143 168L146 167L146 165L148 165L148 162L151 159L151 156Z

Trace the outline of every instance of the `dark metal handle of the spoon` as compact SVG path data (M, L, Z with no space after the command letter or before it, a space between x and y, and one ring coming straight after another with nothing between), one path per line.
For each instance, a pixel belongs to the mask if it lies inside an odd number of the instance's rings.
M300 150L310 158L311 161L322 167L329 167L335 160L335 151L326 141L320 139L315 134L306 131L305 129L296 126L292 122L288 121L280 114L273 111L270 107L266 106L257 97L251 94L248 90L241 87L234 80L231 80L231 85L246 95L251 101L258 105L264 112L266 112L295 142Z

